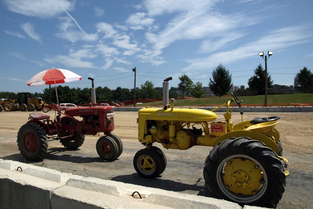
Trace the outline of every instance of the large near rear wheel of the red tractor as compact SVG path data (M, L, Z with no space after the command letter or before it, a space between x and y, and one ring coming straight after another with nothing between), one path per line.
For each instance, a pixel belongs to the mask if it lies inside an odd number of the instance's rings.
M48 150L48 138L41 126L36 123L24 124L18 131L18 150L30 161L42 160Z

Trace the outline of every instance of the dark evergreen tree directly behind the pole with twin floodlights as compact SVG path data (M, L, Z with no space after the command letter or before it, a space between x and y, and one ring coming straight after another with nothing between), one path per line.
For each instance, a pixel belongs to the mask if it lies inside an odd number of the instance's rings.
M269 72L267 73L267 87L271 88L274 81L272 80ZM248 85L250 89L256 89L259 95L265 94L265 70L262 65L259 64L257 68L254 69L254 76L249 78Z

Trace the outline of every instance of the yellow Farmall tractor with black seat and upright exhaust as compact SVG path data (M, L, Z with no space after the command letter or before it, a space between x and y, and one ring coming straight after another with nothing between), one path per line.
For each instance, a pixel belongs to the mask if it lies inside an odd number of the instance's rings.
M288 160L282 157L279 116L256 118L233 124L231 102L242 101L231 91L232 99L209 111L174 108L168 104L168 81L163 82L163 108L142 108L138 112L138 140L145 146L134 156L136 172L145 178L159 176L166 167L163 151L187 150L192 146L212 146L205 160L203 176L209 193L241 206L275 206L285 191ZM223 120L214 111L225 109ZM243 114L243 112L241 112Z

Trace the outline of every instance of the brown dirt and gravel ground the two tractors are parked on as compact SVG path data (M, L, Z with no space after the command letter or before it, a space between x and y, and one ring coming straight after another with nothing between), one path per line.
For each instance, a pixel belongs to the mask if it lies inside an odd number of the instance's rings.
M210 196L203 180L203 165L211 147L192 147L189 150L166 150L157 144L167 157L167 168L156 179L139 177L133 167L133 156L144 147L138 142L137 112L115 112L115 130L124 144L119 159L105 162L95 150L100 136L86 136L77 150L65 149L59 141L50 141L46 158L41 162L29 162L18 151L16 136L27 122L29 112L0 113L0 158L31 163L61 172L81 176L94 176L125 183L138 184L188 194ZM54 118L54 112L47 115ZM223 118L223 113L217 113ZM313 208L313 112L301 113L244 113L244 120L255 117L279 115L277 125L284 157L289 160L290 176L285 193L277 208ZM239 113L233 113L234 124L241 121Z

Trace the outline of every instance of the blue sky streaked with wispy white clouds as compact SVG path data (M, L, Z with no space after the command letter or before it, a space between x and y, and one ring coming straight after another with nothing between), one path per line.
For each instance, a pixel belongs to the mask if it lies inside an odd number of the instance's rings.
M178 76L208 86L220 63L248 87L258 53L274 84L313 72L312 0L0 0L0 91L42 92L26 82L50 68L82 77L70 88L177 87Z

